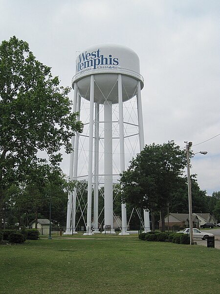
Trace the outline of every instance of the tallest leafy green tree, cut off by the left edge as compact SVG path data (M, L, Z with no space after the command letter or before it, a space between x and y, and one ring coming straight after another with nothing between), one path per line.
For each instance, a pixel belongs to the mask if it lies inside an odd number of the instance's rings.
M38 150L60 160L61 146L71 151L70 138L82 131L71 113L70 88L15 36L0 44L0 219L6 191L22 182ZM1 222L0 222L1 226Z

